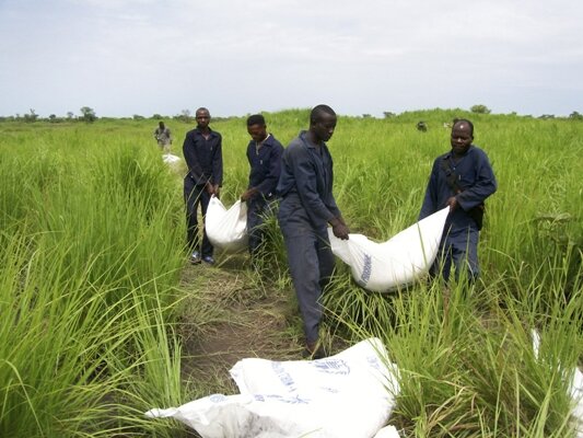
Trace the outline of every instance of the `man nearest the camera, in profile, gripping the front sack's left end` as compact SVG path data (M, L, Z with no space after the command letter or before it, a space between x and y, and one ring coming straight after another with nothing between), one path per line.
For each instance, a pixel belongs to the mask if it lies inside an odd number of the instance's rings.
M281 197L278 221L302 313L305 353L312 358L325 355L319 345L319 299L335 264L327 226L339 239L348 239L349 233L333 195L333 158L326 146L336 120L327 105L312 110L310 129L301 131L283 152L277 187Z

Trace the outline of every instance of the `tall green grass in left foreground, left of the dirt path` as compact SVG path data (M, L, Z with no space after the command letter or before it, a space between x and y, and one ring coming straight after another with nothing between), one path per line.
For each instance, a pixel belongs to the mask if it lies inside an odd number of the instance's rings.
M142 414L185 396L182 198L154 151L77 129L1 145L0 435L166 435Z

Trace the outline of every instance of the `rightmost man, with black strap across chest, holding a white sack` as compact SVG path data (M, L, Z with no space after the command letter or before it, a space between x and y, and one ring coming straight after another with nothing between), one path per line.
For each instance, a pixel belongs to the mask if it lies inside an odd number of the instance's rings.
M494 173L481 149L473 145L474 125L456 119L452 126L452 149L433 162L419 220L450 206L440 249L430 268L448 281L452 264L456 279L462 273L469 281L479 275L478 239L485 200L497 189Z

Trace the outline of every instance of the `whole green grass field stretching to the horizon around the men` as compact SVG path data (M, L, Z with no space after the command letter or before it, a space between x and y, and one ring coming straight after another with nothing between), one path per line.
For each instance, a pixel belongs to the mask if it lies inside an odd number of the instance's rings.
M583 360L583 123L458 110L340 117L329 142L337 201L351 231L373 239L413 223L454 117L474 122L499 182L480 281L469 293L435 284L377 295L339 265L327 337L385 342L401 371L392 422L404 437L574 436L567 389ZM285 145L308 112L266 118ZM427 132L416 129L421 119ZM211 123L223 135L226 205L246 186L244 122ZM177 434L143 412L196 394L197 382L180 379L177 324L185 309L210 316L182 306L184 168L162 162L156 124L0 123L2 437ZM166 125L182 157L191 125ZM269 227L270 287L289 290Z

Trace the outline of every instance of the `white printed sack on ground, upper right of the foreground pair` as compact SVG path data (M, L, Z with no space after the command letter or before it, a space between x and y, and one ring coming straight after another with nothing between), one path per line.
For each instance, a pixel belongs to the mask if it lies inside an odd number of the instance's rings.
M365 438L386 424L392 394L398 392L396 367L389 364L383 343L371 338L319 360L243 359L230 372L242 394L276 393L305 401L305 414L295 419L303 433Z

